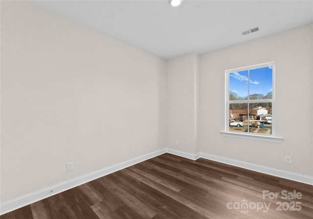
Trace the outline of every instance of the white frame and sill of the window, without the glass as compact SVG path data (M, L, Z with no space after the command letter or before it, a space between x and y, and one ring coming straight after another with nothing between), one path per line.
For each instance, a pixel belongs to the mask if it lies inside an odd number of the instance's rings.
M272 68L272 99L271 100L268 100L268 99L236 100L236 101L230 101L229 100L229 73L236 72L236 71L239 72L239 71L244 71L244 70L251 70L251 69L256 69L256 68L268 67L268 66L273 66L273 68ZM249 95L249 93L248 93L248 95ZM272 121L274 121L271 124L272 134L229 131L229 104L232 104L232 103L269 103L269 102L272 104ZM275 113L275 62L225 70L225 130L221 131L222 136L280 143L282 141L282 138L275 136L275 126L276 126L275 115L276 115L276 113Z

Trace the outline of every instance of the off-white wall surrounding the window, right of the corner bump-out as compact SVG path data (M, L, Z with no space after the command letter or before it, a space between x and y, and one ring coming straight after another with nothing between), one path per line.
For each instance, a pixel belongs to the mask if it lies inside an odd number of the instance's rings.
M200 57L201 152L313 176L313 25ZM225 70L276 62L276 135L282 143L223 137ZM285 155L292 164L285 163Z

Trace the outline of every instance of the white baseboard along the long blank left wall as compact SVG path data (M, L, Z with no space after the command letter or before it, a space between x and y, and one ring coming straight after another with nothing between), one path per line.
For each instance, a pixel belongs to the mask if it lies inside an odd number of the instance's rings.
M71 188L74 188L76 186L82 185L84 183L90 182L94 179L100 178L105 175L112 174L116 171L122 170L124 168L130 167L134 164L140 163L142 161L145 161L147 159L153 158L155 156L161 155L163 153L166 153L166 148L152 152L152 153L147 153L142 156L136 157L134 159L127 160L125 162L104 168L102 170L83 175L74 179L71 179L69 181L54 185L49 188L45 188L43 190L15 198L13 200L4 202L0 204L0 215L6 214L8 212L14 211L16 209L22 208L26 205L29 205L31 203L34 203L36 201L45 199L46 197L50 197L53 195L56 195L58 193L62 193L64 191L67 191Z

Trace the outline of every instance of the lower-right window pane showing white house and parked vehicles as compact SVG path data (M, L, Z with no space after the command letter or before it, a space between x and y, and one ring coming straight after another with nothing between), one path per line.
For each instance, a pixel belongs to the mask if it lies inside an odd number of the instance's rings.
M249 130L251 133L271 134L271 103L249 104Z

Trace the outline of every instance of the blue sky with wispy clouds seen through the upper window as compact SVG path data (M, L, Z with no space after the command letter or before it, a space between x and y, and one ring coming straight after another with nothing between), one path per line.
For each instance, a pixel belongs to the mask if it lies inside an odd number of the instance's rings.
M272 66L250 69L250 94L272 91ZM229 73L229 91L239 97L248 95L248 70Z

